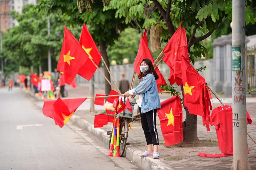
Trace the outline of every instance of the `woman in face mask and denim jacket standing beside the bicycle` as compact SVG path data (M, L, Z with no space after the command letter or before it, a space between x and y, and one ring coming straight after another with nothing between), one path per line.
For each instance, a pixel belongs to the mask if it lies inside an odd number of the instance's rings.
M154 70L152 62L145 58L141 61L139 79L141 82L132 90L125 92L124 96L139 94L139 113L141 115L141 126L147 142L147 151L139 156L153 156L160 158L158 153L158 133L156 128L157 109L161 108L157 91L158 75ZM152 150L152 144L154 152Z

